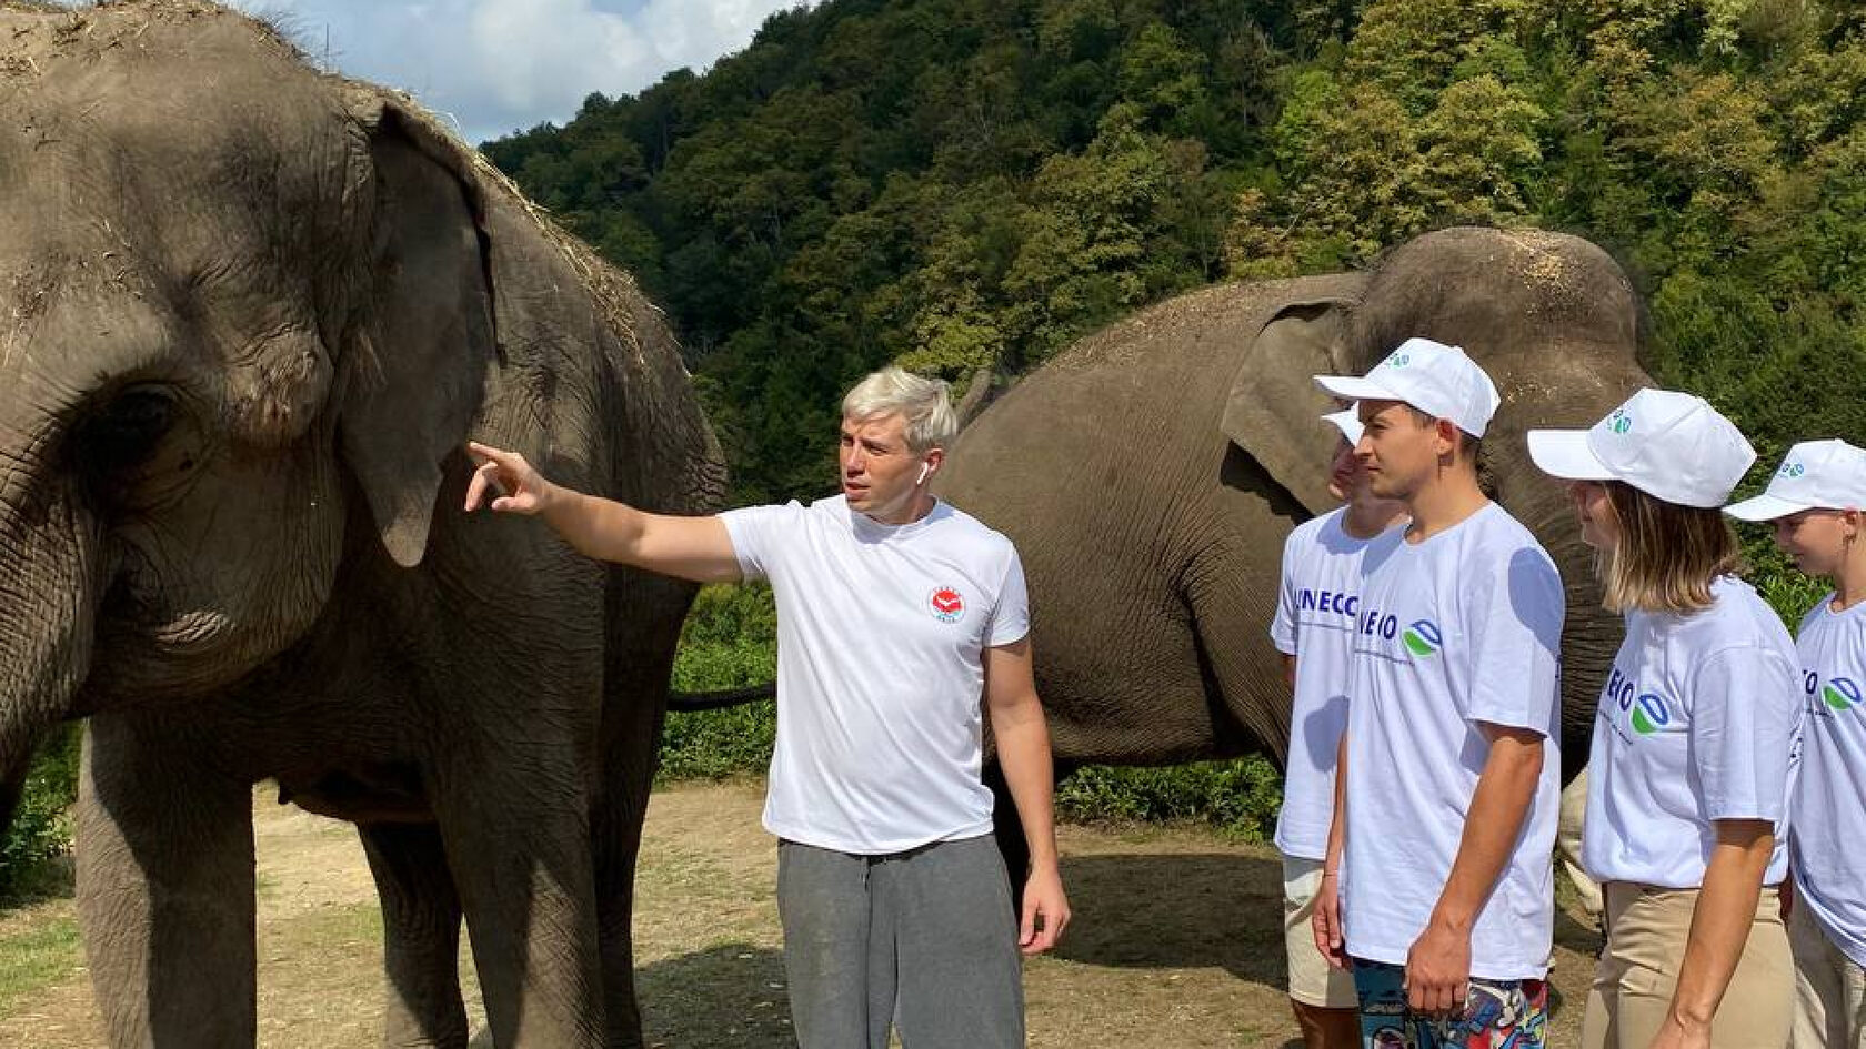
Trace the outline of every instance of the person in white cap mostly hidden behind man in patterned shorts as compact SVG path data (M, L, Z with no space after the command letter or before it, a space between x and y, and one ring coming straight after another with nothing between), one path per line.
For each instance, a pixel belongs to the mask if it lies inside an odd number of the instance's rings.
M1306 1049L1360 1045L1355 978L1316 950L1310 922L1321 860L1334 818L1334 750L1347 724L1347 672L1353 657L1362 554L1372 539L1405 517L1405 506L1373 495L1355 444L1360 418L1353 407L1321 416L1340 431L1329 470L1329 495L1344 506L1314 517L1284 541L1282 588L1271 640L1284 653L1293 704L1284 804L1276 847L1284 868L1284 950L1289 961L1289 1008ZM1392 549L1392 547L1385 547Z

